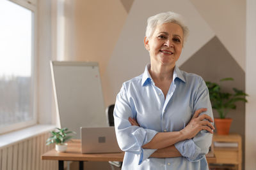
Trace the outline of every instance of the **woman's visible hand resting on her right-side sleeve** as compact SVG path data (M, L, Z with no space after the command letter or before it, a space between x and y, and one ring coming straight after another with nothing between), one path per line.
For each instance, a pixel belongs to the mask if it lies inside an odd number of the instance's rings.
M211 124L211 122L213 122L212 118L205 114L200 115L200 113L204 111L207 111L207 108L196 110L188 125L180 131L187 139L194 138L196 134L202 130L213 133L214 127Z

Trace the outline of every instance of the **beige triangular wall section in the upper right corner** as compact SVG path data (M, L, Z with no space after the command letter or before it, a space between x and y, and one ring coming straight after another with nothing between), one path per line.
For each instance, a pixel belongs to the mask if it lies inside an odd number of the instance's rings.
M190 1L237 64L245 70L246 1Z

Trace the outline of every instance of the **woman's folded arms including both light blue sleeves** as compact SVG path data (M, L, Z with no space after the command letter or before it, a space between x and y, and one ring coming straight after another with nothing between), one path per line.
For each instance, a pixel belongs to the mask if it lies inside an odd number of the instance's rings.
M127 89L123 86L116 97L114 110L116 138L120 148L124 152L138 155L139 164L148 157L182 156L191 162L204 157L211 145L214 127L211 124L209 93L205 83L201 81L193 94L193 109L197 110L194 110L186 127L176 132L157 132L140 127L136 120L132 122L131 118L136 117L135 107L132 105L134 101L127 96ZM205 111L207 112L203 113Z

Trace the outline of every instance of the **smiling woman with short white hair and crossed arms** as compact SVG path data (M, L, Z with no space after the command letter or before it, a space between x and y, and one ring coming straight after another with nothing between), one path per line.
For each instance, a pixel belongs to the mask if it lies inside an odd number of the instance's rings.
M209 92L200 76L175 66L187 36L177 13L148 18L144 44L150 64L116 97L122 169L208 169L205 154L214 129Z

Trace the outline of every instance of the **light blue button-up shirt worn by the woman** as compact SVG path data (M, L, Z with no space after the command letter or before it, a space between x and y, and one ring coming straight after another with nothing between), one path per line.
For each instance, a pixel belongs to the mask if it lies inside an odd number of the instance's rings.
M209 92L204 80L175 66L173 81L166 99L156 87L148 67L140 76L126 81L116 97L114 118L118 145L125 152L122 169L208 169L205 154L212 142L212 134L200 131L195 138L175 143L182 157L151 158L156 150L144 149L157 132L184 129L196 110L207 108L212 116ZM203 114L203 113L201 113ZM132 126L128 118L136 118Z

